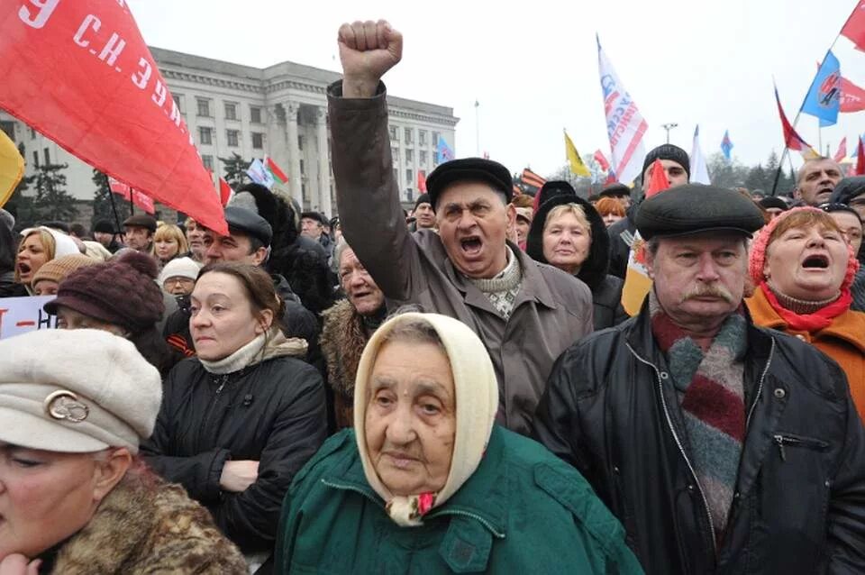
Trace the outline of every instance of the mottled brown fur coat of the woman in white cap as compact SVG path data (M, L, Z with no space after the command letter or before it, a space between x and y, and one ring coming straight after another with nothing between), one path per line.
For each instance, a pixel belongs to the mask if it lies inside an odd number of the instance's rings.
M245 574L246 562L184 488L135 470L59 548L57 575Z

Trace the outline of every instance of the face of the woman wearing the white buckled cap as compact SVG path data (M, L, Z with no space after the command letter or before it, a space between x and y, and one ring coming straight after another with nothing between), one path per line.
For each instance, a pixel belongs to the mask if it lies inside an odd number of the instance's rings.
M58 453L0 443L0 561L34 558L75 534L105 488L90 453Z

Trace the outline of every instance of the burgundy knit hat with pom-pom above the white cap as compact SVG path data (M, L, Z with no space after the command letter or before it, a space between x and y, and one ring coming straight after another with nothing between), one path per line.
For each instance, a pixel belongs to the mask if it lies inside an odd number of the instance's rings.
M159 322L165 313L162 291L154 281L156 261L137 251L105 263L76 269L60 282L57 297L45 311L57 315L58 306L133 333Z

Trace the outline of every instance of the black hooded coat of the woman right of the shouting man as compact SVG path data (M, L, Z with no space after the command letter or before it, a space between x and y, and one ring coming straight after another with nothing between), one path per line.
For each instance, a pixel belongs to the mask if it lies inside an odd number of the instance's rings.
M525 242L525 252L535 261L549 263L543 255L543 226L554 207L566 204L580 205L591 226L592 243L588 249L588 257L576 275L592 291L595 330L621 324L628 319L622 307L624 281L606 273L610 260L610 237L606 233L604 219L597 213L594 205L589 204L576 193L560 194L546 200L534 214L532 227Z

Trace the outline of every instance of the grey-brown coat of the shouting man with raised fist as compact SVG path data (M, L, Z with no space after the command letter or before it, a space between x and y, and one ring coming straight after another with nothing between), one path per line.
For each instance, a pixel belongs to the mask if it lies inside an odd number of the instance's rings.
M496 369L497 419L528 434L553 361L592 332L591 292L577 278L531 260L511 244L523 269L523 288L505 321L454 269L438 235L406 228L383 87L372 98L343 99L341 94L341 83L328 90L342 233L385 293L389 310L419 304L423 311L459 319L478 334Z

